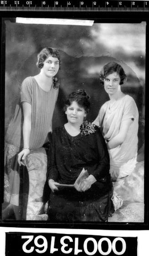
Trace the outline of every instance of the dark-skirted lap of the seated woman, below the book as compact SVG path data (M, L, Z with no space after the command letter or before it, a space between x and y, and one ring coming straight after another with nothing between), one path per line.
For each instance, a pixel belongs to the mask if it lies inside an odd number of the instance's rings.
M51 192L48 220L53 222L105 222L108 219L111 208L111 197L113 191L103 195L96 200L72 200L62 194Z

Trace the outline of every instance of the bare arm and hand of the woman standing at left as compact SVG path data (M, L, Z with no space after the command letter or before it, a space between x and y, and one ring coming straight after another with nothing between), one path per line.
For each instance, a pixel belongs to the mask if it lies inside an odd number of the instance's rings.
M19 165L25 165L21 160L25 160L26 156L30 153L30 134L31 134L31 104L23 101L23 142L24 148L18 154Z

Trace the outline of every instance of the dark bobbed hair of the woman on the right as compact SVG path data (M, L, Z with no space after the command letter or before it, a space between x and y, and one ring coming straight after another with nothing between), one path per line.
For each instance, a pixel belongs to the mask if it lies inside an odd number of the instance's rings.
M126 81L127 75L125 74L123 68L121 65L119 65L117 62L109 62L106 65L103 66L103 69L101 70L99 74L100 82L103 85L104 79L112 74L112 73L118 73L120 77L120 85L123 85L123 83Z

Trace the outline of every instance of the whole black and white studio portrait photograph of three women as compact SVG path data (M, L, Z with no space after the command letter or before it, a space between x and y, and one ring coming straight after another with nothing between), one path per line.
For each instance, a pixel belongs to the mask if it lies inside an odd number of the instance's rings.
M146 22L72 21L4 21L2 221L143 224Z

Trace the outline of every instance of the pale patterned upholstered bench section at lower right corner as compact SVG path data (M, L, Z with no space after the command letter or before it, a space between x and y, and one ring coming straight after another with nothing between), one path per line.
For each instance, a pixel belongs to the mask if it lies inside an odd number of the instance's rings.
M137 162L134 171L113 183L123 205L108 222L144 222L144 161Z

